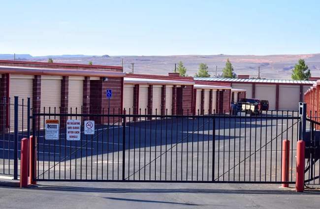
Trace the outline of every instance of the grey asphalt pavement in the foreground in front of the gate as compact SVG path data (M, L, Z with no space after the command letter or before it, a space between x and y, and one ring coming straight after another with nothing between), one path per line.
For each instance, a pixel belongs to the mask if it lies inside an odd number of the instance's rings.
M42 183L42 182L41 182ZM319 191L279 185L210 183L42 183L0 188L0 208L20 209L318 209Z

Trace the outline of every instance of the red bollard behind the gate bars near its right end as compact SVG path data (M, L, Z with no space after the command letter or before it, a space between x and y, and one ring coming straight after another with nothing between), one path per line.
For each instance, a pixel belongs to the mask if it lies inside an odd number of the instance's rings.
M282 142L282 169L281 181L289 181L290 141L285 139ZM289 187L288 183L281 184L282 187Z

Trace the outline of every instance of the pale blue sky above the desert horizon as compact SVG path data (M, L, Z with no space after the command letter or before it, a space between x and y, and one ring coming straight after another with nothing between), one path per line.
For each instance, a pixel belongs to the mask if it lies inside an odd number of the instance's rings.
M3 0L0 54L320 53L319 0Z

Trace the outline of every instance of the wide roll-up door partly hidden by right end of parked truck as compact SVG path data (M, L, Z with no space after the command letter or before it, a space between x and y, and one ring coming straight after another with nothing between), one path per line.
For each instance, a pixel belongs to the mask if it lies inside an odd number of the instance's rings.
M269 110L276 109L277 86L271 84L256 84L256 98L269 101ZM250 97L248 97L250 98Z

